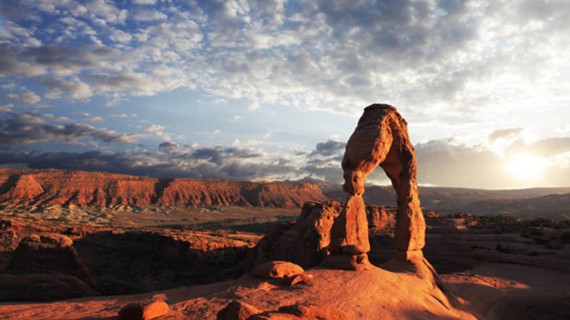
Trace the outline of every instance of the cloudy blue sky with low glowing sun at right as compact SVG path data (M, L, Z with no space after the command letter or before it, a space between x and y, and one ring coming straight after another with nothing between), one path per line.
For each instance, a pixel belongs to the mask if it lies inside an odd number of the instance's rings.
M0 166L340 182L363 108L387 103L420 185L570 186L569 16L567 0L3 0Z

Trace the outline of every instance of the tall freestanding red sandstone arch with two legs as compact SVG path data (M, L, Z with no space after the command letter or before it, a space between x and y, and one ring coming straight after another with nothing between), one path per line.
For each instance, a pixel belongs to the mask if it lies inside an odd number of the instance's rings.
M408 124L395 107L370 105L348 139L342 161L346 206L331 230L329 265L361 270L370 265L366 206L362 195L366 177L381 166L398 195L395 247L398 260L423 257L425 220L418 198L415 150Z

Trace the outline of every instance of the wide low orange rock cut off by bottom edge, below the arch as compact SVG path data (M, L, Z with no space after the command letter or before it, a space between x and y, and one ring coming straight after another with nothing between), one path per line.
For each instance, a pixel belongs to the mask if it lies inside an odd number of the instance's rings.
M251 320L281 320L281 319L335 319L355 320L353 316L333 306L321 306L317 304L294 304L281 306L279 311L264 312L249 318Z

